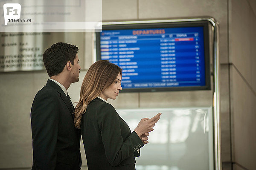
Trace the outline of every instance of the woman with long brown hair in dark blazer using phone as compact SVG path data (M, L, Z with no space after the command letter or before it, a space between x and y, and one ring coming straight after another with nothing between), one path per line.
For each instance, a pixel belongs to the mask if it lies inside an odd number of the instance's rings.
M100 60L84 77L75 110L75 126L81 128L89 170L135 170L135 157L148 143L148 132L160 119L141 119L131 133L125 121L107 99L116 99L121 87L122 69Z

